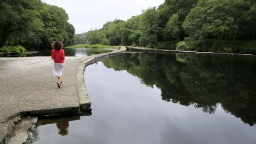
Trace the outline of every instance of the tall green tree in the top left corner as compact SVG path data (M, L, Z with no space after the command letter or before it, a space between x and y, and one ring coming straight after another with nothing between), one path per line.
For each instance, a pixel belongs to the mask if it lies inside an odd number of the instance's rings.
M29 31L42 27L42 21L38 18L38 1L3 1L0 3L0 46L3 46L9 38L15 45L21 40L20 36L27 37ZM19 38L20 37L20 38Z

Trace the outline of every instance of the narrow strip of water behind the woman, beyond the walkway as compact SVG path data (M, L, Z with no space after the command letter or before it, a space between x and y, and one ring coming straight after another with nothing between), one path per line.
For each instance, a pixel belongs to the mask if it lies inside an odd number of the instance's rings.
M35 57L35 56L51 56L51 50L52 49L46 49L46 50L41 50L37 52L25 52L22 55L14 55L14 57ZM93 54L99 54L99 53L106 53L106 52L111 52L114 51L115 49L96 49L96 48L77 48L77 49L69 49L69 48L64 48L65 50L65 55L66 56L76 56L76 57L81 57L81 56L89 56Z

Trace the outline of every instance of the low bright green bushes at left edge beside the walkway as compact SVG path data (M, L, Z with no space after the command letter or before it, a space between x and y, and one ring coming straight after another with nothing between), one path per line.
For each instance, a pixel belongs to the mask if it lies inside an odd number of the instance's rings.
M25 51L26 49L21 45L18 45L18 46L5 45L0 48L0 56L22 54Z

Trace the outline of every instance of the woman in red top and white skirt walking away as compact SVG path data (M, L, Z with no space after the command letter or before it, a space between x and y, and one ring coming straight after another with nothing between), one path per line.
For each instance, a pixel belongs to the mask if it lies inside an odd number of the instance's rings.
M58 77L57 85L60 88L60 86L62 85L65 52L63 50L63 44L60 41L52 43L52 47L52 59L54 60L53 76Z

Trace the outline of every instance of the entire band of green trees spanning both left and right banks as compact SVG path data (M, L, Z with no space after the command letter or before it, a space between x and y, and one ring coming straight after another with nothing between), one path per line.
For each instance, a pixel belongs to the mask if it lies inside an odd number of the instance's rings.
M53 41L256 54L256 1L165 0L130 19L76 35L68 14L40 0L0 2L0 55L6 46L45 49Z

